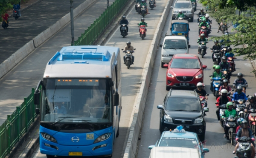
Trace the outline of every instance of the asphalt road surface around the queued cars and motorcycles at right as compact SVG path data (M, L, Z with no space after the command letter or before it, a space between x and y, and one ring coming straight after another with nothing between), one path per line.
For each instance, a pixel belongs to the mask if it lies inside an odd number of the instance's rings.
M195 12L196 14L198 11L200 11L201 4L198 5L198 10ZM189 23L189 43L191 45L191 48L189 48L189 54L197 54L198 52L198 44L197 39L198 37L198 23L197 22L197 16L194 15L194 22ZM169 14L169 19L170 19ZM211 19L211 18L210 18ZM209 37L212 36L221 36L223 34L217 33L218 31L218 24L215 22L215 20L212 20L212 34L209 35ZM169 30L169 26L166 25L164 32ZM231 32L231 28L229 28L229 31ZM161 39L163 42L163 38ZM206 135L205 135L205 142L206 142L206 148L210 150L210 152L206 153L207 158L233 158L235 155L232 154L234 150L234 146L231 146L230 142L227 141L225 138L223 138L224 130L221 127L221 125L218 123L218 119L216 116L216 98L211 94L210 91L210 80L209 75L212 74L212 59L211 59L211 52L209 47L211 48L214 43L212 40L209 40L210 42L207 43L207 52L206 56L204 56L204 59L201 59L201 62L204 65L207 65L207 69L204 70L204 84L206 85L205 90L210 95L208 96L208 107L209 107L209 113L207 113L207 116L205 117L205 120L207 122L206 125ZM160 42L161 43L161 42ZM253 95L256 92L256 79L253 73L252 65L250 61L243 60L241 56L237 57L238 59L235 59L236 62L236 71L233 73L233 76L230 79L230 82L233 83L233 81L236 79L236 74L241 72L244 74L244 78L248 82L248 87L246 89L246 94ZM161 60L161 50L157 52L157 57L155 59L154 64L154 72L151 80L151 86L149 87L148 97L147 97L147 105L144 111L144 119L143 119L143 127L141 131L141 140L139 144L139 152L137 155L137 158L148 158L150 155L150 150L148 149L149 145L154 145L157 141L157 139L160 137L160 131L159 131L159 110L157 109L158 104L163 103L163 99L166 96L166 68L161 68L160 66L160 60ZM231 84L230 84L231 85Z

